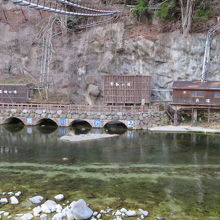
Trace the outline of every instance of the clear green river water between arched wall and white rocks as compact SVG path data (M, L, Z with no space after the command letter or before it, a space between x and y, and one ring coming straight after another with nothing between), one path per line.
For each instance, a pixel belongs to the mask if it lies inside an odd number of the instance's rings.
M0 126L0 192L23 192L19 205L0 210L25 212L27 198L63 193L93 210L142 208L147 219L220 219L220 135L127 131L61 142L68 132Z

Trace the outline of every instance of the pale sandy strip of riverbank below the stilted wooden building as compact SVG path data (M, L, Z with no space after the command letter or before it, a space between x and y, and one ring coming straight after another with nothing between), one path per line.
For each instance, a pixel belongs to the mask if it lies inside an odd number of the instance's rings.
M214 128L205 128L205 127L196 127L196 126L159 126L159 127L153 127L149 128L149 131L155 131L155 132L201 132L201 133L220 133L220 129L214 129Z

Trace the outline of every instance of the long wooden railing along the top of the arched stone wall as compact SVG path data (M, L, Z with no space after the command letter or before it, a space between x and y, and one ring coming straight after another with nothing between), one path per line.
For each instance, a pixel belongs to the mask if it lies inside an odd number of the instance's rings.
M27 109L27 110L64 110L76 113L82 112L144 112L144 106L113 106L113 105L68 105L68 104L34 104L34 103L0 103L0 109Z

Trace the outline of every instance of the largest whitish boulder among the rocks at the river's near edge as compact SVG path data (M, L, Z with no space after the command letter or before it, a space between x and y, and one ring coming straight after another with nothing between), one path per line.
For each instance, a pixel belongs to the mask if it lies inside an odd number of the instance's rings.
M92 216L93 211L87 206L83 199L74 201L70 204L71 213L76 220L88 219Z

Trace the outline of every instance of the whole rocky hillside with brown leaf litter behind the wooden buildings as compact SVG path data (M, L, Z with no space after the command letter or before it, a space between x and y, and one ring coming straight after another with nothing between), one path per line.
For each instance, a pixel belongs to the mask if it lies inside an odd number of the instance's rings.
M208 2L205 9L200 4L194 8L186 36L179 6L135 15L134 1L97 0L93 6L121 14L88 28L100 19L21 10L1 1L0 81L34 83L41 91L35 101L94 104L102 102L103 74L144 74L152 76L154 98L169 100L169 91L160 90L169 90L173 80L201 78L206 32L216 24L220 11L219 1ZM220 80L219 42L218 36L212 45L210 80ZM47 69L43 77L42 69Z

